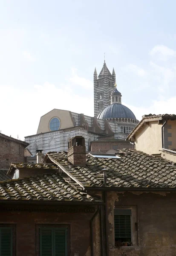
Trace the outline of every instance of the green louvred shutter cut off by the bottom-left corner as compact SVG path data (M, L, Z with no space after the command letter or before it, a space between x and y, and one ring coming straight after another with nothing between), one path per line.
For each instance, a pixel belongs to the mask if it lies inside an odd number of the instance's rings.
M0 256L12 256L12 227L0 227Z

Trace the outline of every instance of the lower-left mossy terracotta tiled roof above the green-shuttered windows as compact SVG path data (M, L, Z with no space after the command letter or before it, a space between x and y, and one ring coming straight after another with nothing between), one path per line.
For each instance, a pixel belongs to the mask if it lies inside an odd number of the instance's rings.
M61 201L101 202L86 193L77 191L59 174L36 175L17 180L0 181L0 201Z

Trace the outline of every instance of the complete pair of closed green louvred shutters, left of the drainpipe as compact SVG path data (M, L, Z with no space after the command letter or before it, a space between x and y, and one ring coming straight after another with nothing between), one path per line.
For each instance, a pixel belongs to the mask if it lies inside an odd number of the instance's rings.
M40 256L68 256L68 227L39 227Z

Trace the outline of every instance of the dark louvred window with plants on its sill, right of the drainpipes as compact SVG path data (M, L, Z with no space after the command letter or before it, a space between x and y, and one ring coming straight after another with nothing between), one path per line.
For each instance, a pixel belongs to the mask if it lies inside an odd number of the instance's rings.
M114 209L115 245L131 246L131 209Z

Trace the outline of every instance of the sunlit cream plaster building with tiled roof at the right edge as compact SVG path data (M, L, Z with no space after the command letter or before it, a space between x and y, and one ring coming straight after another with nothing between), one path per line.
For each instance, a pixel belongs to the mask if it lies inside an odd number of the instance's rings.
M147 154L161 154L176 162L176 115L144 115L141 122L129 134L127 140L136 150Z

